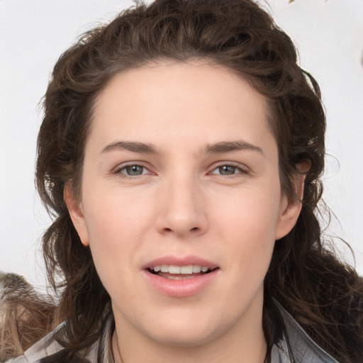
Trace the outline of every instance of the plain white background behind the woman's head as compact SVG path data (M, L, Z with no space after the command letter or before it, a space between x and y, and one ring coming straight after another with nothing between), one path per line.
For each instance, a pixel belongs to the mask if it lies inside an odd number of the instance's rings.
M327 111L328 234L352 245L363 274L363 1L268 1L318 80ZM50 219L33 183L38 103L60 54L132 1L0 0L0 270L45 284L40 235ZM347 259L350 259L345 249Z

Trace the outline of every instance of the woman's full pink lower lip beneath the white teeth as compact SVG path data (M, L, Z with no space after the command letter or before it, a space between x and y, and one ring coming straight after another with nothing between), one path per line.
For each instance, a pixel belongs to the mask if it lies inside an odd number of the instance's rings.
M162 295L175 298L186 298L199 294L206 289L216 278L219 269L215 269L208 274L203 274L189 279L172 280L160 277L144 270L144 276L150 284Z

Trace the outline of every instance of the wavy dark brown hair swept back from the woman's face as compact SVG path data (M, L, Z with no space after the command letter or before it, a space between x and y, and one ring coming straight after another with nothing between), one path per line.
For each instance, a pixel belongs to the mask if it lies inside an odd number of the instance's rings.
M289 197L294 197L291 180L299 173L298 164L310 164L301 214L293 230L276 242L265 279L263 325L269 347L274 342L274 297L333 357L362 360L362 279L324 247L317 216L325 156L318 84L296 64L289 36L250 0L139 4L83 35L55 65L38 136L36 184L54 216L43 250L50 283L61 291L57 320L69 322L66 336L58 339L71 355L91 345L110 308L91 253L79 241L63 200L67 181L79 196L94 100L118 72L161 59L191 58L228 67L267 96L279 145L281 188Z

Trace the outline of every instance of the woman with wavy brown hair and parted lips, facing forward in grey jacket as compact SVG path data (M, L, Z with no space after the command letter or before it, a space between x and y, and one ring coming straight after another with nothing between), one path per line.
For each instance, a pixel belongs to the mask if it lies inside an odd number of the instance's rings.
M255 3L121 13L62 55L44 110L48 316L63 323L11 362L362 360L362 279L316 217L318 85ZM32 308L13 310L28 326Z

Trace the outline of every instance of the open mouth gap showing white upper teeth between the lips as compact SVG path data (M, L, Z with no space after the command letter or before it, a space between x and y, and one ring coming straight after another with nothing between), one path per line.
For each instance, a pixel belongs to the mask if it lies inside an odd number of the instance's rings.
M208 266L201 266L199 264L189 264L187 266L158 264L155 267L147 268L147 272L159 277L164 277L165 279L183 280L210 274L216 269L218 269L218 267L209 268Z

